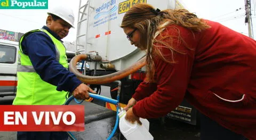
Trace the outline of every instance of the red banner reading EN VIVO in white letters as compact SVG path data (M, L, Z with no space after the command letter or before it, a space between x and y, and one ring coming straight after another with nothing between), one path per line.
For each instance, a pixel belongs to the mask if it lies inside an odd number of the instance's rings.
M84 106L0 106L0 131L84 131Z

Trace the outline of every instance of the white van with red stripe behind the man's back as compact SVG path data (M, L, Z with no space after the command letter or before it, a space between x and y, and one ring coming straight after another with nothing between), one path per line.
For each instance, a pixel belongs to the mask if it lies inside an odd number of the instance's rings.
M15 95L19 43L0 40L0 97Z

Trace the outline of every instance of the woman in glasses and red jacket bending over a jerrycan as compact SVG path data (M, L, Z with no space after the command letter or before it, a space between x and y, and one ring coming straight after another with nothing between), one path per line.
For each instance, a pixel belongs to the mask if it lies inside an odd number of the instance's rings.
M148 4L134 5L121 27L147 52L147 77L125 108L127 120L164 116L185 98L203 114L201 139L256 139L255 40Z

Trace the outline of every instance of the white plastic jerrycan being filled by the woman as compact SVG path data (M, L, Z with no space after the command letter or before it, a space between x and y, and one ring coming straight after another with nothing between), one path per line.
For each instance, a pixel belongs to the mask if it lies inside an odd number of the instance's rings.
M147 119L140 118L142 125L137 122L130 123L125 119L126 111L119 109L119 129L127 140L153 140L154 137L149 133L149 121Z

